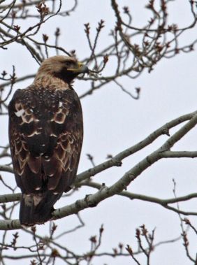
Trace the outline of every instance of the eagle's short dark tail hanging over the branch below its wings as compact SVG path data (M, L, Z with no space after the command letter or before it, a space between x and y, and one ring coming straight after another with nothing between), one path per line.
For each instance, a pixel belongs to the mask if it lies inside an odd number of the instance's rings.
M41 194L22 194L20 201L20 223L25 226L43 224L52 219L54 203L61 194L47 191Z

